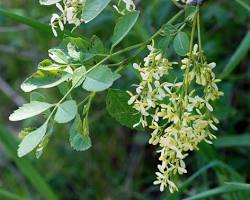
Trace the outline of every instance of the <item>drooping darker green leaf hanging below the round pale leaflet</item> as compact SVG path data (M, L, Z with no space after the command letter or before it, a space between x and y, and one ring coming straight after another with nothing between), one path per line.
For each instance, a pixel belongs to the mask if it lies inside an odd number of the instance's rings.
M78 114L71 126L69 138L71 147L76 151L85 151L92 146L88 131L84 132L84 130L88 130L88 128L83 128L83 126L86 126L86 124L82 123L80 115Z

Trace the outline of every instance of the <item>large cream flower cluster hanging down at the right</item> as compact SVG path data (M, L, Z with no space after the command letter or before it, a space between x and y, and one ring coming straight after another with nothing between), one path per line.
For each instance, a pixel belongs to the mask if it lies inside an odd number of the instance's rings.
M134 64L142 81L136 85L135 94L128 92L128 104L141 114L135 126L150 128L149 143L160 148L154 184L160 185L160 191L168 187L174 192L178 190L174 175L187 173L184 159L188 152L197 149L201 141L211 143L215 138L211 131L217 130L218 120L212 115L211 102L223 93L218 90L219 79L212 71L216 64L206 62L198 45L182 60L182 80L176 77L172 82L166 80L173 77L169 73L177 63L169 62L153 46L149 46L149 51L143 66Z

